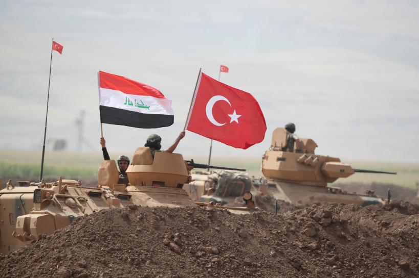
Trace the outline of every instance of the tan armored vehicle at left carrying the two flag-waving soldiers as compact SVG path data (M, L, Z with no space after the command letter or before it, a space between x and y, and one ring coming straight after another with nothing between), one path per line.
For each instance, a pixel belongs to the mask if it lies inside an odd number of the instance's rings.
M189 164L194 165L193 161ZM114 160L102 162L96 187L61 178L54 183L13 185L9 181L0 190L0 252L15 250L69 225L78 216L103 209L128 205L217 208L213 203L195 203L182 189L190 181L192 165L188 166L180 154L157 152L152 159L148 147L139 147L126 171L130 181L127 187L117 184L119 173ZM249 213L254 203L250 193L246 198L248 208L231 211Z

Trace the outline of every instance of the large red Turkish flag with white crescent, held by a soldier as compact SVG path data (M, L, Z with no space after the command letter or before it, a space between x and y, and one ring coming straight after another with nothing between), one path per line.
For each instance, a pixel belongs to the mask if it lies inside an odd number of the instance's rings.
M201 73L192 99L187 130L236 148L263 140L266 122L256 99Z

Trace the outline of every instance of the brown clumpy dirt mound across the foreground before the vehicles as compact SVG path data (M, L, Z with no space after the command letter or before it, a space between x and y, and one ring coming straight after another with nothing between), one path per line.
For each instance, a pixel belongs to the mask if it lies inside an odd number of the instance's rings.
M417 277L419 215L407 207L313 205L274 216L131 205L0 255L0 276Z

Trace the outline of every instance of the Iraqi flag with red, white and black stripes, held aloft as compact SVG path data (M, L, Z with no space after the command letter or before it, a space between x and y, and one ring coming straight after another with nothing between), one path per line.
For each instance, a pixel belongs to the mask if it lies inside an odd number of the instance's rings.
M103 71L98 79L100 122L142 129L173 124L172 101L159 90Z

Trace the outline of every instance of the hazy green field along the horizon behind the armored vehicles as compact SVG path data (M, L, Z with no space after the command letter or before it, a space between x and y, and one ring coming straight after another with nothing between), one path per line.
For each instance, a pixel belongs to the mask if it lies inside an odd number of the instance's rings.
M116 158L117 154L111 154ZM101 153L71 153L47 151L45 155L44 176L58 179L94 180L103 157ZM207 163L208 158L194 158L196 163ZM40 151L0 150L0 177L8 179L37 180L40 173ZM250 175L259 177L261 158L219 158L211 159L212 165L245 168ZM419 182L419 164L348 162L353 168L396 171L397 175L356 173L339 183L387 183L416 188Z

